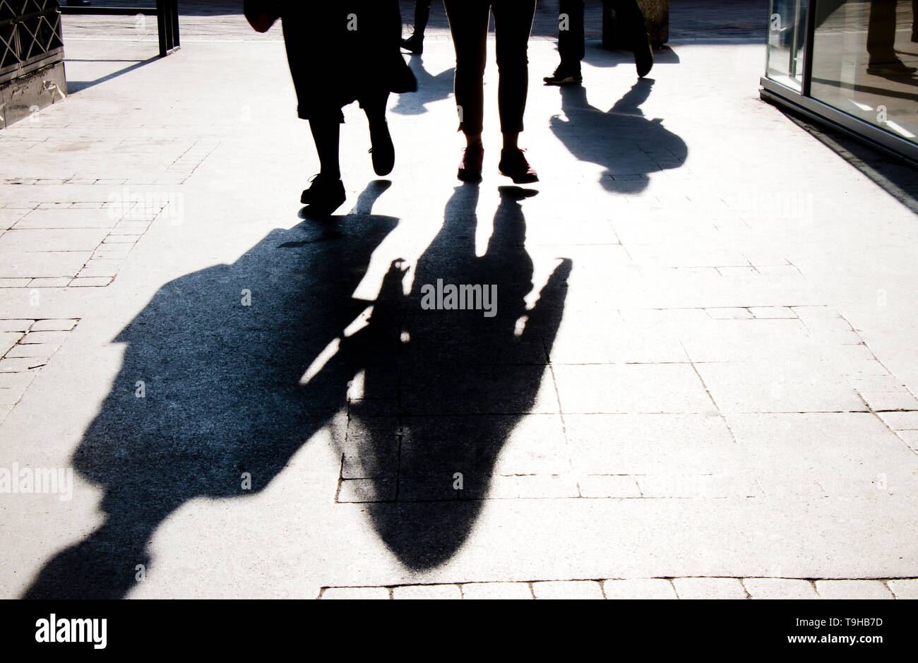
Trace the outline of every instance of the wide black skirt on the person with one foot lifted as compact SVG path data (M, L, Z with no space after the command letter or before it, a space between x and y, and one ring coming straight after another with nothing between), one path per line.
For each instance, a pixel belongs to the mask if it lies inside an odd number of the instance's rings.
M353 101L417 89L397 0L294 0L281 19L300 118L343 121Z

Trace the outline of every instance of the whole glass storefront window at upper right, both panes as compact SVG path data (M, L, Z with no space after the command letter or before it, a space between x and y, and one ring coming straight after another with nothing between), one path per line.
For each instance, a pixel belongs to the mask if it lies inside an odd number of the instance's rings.
M770 0L762 98L918 163L918 0Z

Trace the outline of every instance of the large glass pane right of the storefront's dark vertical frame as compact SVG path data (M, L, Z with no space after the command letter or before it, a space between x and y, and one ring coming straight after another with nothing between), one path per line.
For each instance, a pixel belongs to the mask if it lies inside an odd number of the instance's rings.
M918 138L918 0L815 0L811 96Z

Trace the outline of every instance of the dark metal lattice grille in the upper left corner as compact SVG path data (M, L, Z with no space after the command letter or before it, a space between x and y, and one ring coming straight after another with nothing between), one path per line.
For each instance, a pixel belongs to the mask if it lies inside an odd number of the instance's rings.
M62 59L58 0L0 0L0 84Z

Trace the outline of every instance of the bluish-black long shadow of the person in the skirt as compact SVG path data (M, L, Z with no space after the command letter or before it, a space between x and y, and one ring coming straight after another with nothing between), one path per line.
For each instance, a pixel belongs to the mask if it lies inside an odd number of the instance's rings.
M233 264L176 278L118 334L123 365L73 454L104 490L105 522L26 598L124 596L138 565L155 566L147 544L170 513L262 490L341 409L352 367L302 377L367 306L352 294L397 225L371 212L388 184L369 185L333 230L273 230Z

